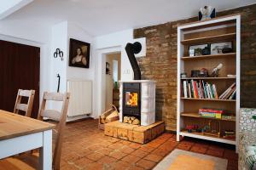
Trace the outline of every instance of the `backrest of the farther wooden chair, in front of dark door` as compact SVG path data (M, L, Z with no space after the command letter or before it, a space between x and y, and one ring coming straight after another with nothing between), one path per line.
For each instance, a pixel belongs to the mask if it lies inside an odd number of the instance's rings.
M25 116L30 117L31 116L31 112L32 112L34 96L35 96L35 90L22 90L22 89L19 89L17 97L16 97L14 113L19 114L19 111L25 111ZM20 103L22 97L27 97L28 98L26 104L21 104Z

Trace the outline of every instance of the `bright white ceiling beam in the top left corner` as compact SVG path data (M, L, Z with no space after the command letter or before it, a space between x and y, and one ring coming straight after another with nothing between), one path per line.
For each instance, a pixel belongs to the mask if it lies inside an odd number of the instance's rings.
M10 14L26 6L28 3L32 3L33 0L0 0L0 20L3 20Z

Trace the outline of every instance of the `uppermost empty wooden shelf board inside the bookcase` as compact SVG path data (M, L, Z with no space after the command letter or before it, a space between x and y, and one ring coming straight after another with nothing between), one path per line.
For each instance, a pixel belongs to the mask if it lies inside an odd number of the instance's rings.
M197 37L192 39L187 39L181 41L183 45L192 45L192 44L200 44L205 42L220 42L220 41L229 41L236 38L236 33L227 33L227 34L221 34L218 36L209 36L209 37Z

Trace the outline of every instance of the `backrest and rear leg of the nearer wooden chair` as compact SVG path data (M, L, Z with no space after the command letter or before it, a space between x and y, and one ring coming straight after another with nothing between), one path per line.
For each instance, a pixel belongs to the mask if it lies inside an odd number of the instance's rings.
M42 104L40 106L39 113L38 113L39 120L43 120L44 117L48 117L49 119L53 119L58 122L54 129L55 148L54 148L54 156L53 156L53 162L52 162L54 169L60 169L63 130L67 120L67 109L68 109L69 98L70 98L69 93L61 94L61 93L44 92ZM45 105L47 100L62 101L61 112L55 111L55 110L45 110Z

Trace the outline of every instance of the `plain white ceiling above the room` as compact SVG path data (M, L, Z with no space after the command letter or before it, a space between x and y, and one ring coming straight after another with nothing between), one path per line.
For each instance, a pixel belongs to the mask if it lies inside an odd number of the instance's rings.
M92 36L153 26L198 14L211 5L217 11L256 0L35 0L5 20L28 20L52 26L63 20L79 24Z

